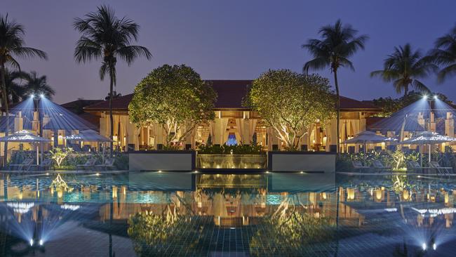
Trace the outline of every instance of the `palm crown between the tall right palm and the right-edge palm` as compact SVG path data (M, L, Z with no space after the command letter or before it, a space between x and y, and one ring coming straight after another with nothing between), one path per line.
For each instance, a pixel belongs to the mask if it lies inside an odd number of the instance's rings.
M370 72L370 77L381 77L383 81L393 82L397 93L408 94L410 87L429 93L429 88L418 79L425 78L437 68L429 56L423 56L418 49L413 51L410 44L394 48L394 53L384 60L383 70Z

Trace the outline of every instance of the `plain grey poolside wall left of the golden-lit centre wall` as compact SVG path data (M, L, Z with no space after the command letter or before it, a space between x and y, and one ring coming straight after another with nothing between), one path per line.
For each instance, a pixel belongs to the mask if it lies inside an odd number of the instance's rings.
M192 171L194 151L136 151L128 154L130 171Z

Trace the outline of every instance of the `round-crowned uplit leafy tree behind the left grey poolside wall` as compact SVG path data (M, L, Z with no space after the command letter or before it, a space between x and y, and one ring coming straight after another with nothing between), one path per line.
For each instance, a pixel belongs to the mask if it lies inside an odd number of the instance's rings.
M191 67L163 65L135 87L128 112L137 126L160 124L168 146L175 140L182 143L198 124L214 119L216 97Z

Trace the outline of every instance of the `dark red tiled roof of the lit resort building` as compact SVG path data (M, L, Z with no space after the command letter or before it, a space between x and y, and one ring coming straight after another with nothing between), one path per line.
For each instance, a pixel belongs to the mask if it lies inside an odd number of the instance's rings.
M248 109L243 107L242 99L247 93L247 87L252 83L252 80L206 80L212 84L215 92L217 93L217 100L215 101L215 108L223 109ZM133 94L123 95L115 98L112 101L112 108L114 110L128 110L128 104L133 98ZM342 110L378 110L377 107L368 103L367 101L358 101L344 96L340 97L340 108ZM84 107L88 111L103 111L108 110L108 102L102 101Z

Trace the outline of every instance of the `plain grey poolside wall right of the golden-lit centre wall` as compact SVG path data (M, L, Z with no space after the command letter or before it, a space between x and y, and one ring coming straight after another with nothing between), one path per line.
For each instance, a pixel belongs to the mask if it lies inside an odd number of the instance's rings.
M335 172L334 152L268 152L270 171Z

